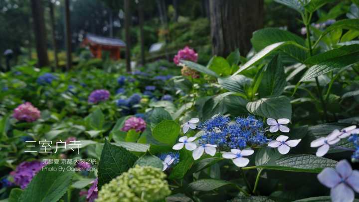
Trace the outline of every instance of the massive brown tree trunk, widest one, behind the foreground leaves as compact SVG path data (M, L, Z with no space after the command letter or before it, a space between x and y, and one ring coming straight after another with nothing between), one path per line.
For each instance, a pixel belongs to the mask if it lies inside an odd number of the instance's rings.
M263 0L209 0L212 52L226 57L251 49L252 32L263 27Z

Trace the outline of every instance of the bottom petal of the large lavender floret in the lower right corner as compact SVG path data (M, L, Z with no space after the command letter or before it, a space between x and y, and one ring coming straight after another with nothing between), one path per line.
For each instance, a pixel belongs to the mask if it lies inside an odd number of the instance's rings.
M354 191L344 183L331 189L332 202L353 202L354 197Z

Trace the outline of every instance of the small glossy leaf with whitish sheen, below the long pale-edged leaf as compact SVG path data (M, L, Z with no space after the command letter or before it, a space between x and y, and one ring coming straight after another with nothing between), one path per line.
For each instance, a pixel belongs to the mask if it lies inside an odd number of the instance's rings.
M224 89L243 94L246 93L245 89L251 85L252 81L252 79L243 75L218 78L219 85L221 85Z

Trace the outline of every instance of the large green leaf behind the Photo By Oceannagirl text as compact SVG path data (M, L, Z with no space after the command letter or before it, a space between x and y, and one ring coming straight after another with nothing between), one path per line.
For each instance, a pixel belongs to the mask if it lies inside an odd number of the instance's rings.
M66 171L68 165L51 164L35 175L22 192L18 202L57 202L70 186L74 172ZM65 169L64 172L59 168Z

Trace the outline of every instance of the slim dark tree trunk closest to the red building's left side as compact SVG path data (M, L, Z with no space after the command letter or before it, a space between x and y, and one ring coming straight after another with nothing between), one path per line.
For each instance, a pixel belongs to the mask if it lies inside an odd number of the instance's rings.
M66 70L71 69L71 30L70 30L70 2L65 0L65 35L66 35Z

